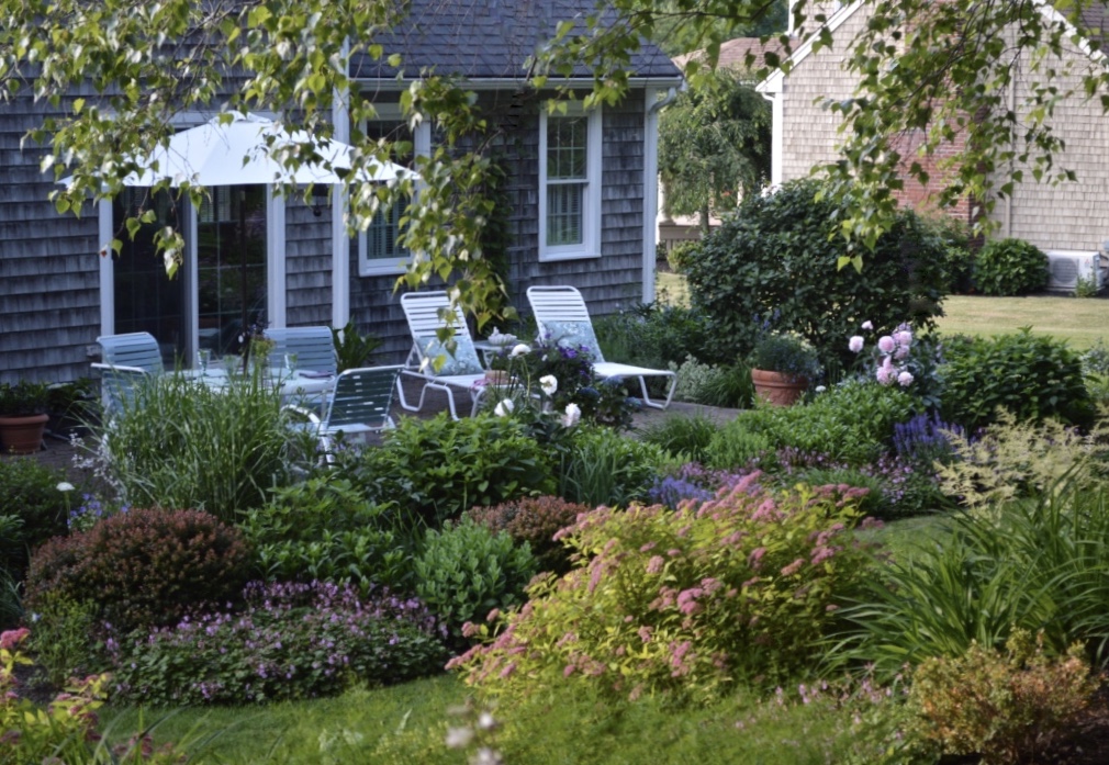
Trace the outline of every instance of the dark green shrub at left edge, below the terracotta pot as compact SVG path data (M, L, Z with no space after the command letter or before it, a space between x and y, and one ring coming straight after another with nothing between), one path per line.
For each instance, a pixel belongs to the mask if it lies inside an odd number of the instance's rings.
M27 569L28 550L51 537L65 533L68 492L61 470L40 465L33 457L0 461L0 514L18 519L9 533L0 536L4 568L17 578ZM70 487L72 489L72 487Z

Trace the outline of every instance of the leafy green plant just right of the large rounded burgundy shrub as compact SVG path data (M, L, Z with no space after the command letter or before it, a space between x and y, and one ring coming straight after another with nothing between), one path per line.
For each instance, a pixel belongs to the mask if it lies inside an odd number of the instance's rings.
M407 516L368 501L332 475L277 489L241 528L268 581L373 584L405 589L411 579Z

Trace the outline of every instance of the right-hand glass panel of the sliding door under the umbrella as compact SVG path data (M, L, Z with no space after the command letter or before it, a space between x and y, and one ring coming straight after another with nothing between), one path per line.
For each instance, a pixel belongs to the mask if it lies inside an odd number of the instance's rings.
M199 345L238 353L243 323L266 322L266 186L217 186L196 215Z

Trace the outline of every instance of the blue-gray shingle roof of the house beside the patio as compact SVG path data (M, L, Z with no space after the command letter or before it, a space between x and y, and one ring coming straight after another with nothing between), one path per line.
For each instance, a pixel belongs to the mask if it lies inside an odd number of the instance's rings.
M391 34L374 40L381 61L353 57L350 73L359 79L388 79L397 70L384 59L399 53L407 76L434 68L439 74L470 80L523 79L527 60L554 35L560 21L583 19L594 0L410 0L408 18ZM635 76L676 78L678 69L652 43L632 53ZM576 76L592 76L584 67Z

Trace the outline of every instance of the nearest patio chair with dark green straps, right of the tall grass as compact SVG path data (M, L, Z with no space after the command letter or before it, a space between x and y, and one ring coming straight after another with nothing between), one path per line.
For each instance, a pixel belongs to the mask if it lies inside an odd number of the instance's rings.
M398 365L347 369L335 379L335 387L324 401L323 417L295 405L284 409L307 419L306 422L293 422L293 426L318 438L327 461L332 461L332 446L337 435L364 436L396 427L389 408L401 368Z

